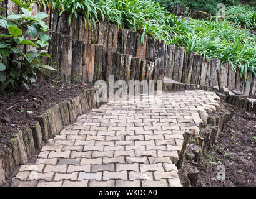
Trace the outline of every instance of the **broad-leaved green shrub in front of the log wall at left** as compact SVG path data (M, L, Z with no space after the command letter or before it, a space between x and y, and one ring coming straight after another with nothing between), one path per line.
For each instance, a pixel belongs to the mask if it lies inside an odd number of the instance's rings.
M39 12L32 16L31 3L22 4L22 14L7 12L7 17L0 16L0 91L7 86L11 90L27 87L28 82L42 80L42 70L54 68L42 65L42 57L50 57L44 49L50 37L46 35L48 26L42 21L48 15ZM26 49L26 50L25 50ZM30 50L29 50L30 49Z

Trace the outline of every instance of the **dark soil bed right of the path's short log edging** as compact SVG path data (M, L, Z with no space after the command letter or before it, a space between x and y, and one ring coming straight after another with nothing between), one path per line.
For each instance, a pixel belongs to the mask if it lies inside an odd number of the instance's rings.
M199 170L199 187L255 187L256 186L256 117L244 109L235 110L233 118L212 150L207 150L199 163L184 161L179 170L182 184L187 184L187 172ZM225 180L218 180L217 165L224 165Z

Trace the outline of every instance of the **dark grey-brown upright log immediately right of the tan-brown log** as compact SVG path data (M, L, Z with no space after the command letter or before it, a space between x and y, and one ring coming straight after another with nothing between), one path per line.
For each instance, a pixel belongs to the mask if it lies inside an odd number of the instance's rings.
M97 80L103 80L103 68L105 64L106 45L95 45L95 58L94 58L94 83Z

